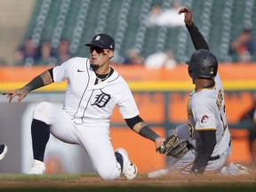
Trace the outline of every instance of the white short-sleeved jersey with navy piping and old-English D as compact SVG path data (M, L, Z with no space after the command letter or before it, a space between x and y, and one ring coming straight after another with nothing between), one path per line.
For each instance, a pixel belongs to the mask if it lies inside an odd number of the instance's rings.
M94 84L95 72L88 58L73 58L53 68L54 82L68 79L63 109L76 124L106 122L117 105L124 118L139 115L128 84L116 70L105 81Z

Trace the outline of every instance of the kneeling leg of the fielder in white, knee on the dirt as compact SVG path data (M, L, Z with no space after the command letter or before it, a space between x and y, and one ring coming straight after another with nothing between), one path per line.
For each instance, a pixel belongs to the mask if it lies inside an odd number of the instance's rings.
M110 140L108 124L93 124L93 126L88 124L86 127L81 125L77 126L77 131L79 132L80 140L83 142L81 146L84 146L88 156L91 158L93 168L101 179L116 180L120 177L122 171L127 171L129 157L125 150L121 148L116 150L115 153ZM129 163L131 164L130 161ZM131 179L134 178L131 176Z

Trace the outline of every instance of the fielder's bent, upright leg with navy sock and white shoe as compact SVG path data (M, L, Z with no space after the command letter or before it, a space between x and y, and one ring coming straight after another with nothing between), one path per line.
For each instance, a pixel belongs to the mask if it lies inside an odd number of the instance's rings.
M52 130L59 129L56 135L62 137L63 141L76 142L74 137L70 136L73 134L73 126L70 117L51 103L42 102L36 106L31 124L34 164L29 174L44 174L44 152Z

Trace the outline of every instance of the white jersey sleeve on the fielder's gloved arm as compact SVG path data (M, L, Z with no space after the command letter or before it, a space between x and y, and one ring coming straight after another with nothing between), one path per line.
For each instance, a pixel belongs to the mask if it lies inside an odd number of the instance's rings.
M124 119L132 118L140 114L136 102L133 98L132 92L128 84L126 84L125 82L120 94L120 100L117 103L117 107Z

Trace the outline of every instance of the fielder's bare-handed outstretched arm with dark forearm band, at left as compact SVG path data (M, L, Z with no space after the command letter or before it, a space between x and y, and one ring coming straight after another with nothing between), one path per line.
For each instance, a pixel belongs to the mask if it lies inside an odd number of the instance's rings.
M16 100L16 102L20 102L20 100L23 100L27 96L28 92L43 87L44 85L52 84L52 82L52 68L50 68L44 71L39 76L36 76L32 81L30 81L28 84L21 87L20 89L2 92L2 94L7 95L7 99L9 99L9 102L12 102L12 99L18 96L19 98L18 100Z

